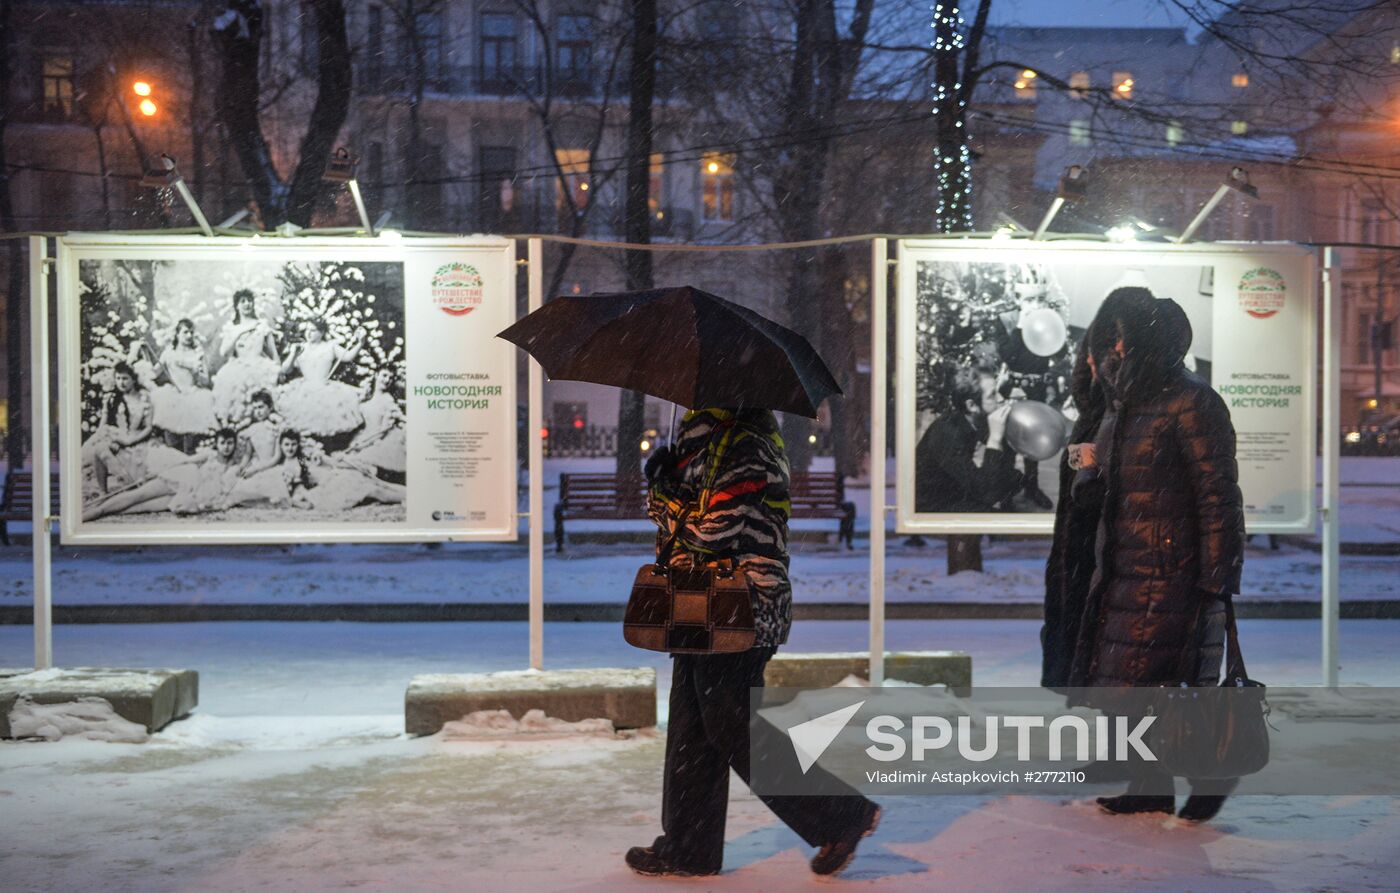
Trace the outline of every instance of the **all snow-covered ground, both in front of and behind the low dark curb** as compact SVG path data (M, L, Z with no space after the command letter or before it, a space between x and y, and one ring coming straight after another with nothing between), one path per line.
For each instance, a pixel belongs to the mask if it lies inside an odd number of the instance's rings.
M1400 462L1347 460L1343 477L1382 484L1344 491L1344 539L1400 542ZM850 495L868 518L868 488ZM1261 546L1247 556L1246 598L1316 599L1316 553ZM640 544L549 554L546 599L620 602L643 558ZM865 549L798 544L797 598L864 602L868 560ZM916 549L895 539L888 593L1037 602L1043 560L1043 540L997 542L986 574L949 579L937 540ZM526 592L518 546L57 549L55 571L60 605L521 602ZM1400 557L1348 556L1341 574L1344 598L1397 598ZM0 549L0 605L25 605L29 593L28 549ZM1240 626L1252 676L1319 682L1316 620ZM886 641L967 651L977 684L1028 684L1039 675L1037 630L1028 620L892 621ZM804 621L788 649L864 649L867 634L864 623ZM1400 686L1400 621L1341 621L1340 652L1344 683ZM0 890L815 889L808 850L741 785L724 876L664 885L626 871L622 852L658 831L664 731L402 735L412 676L519 669L526 654L524 623L59 626L57 663L193 668L200 707L144 743L0 742ZM0 626L0 666L31 659L32 630ZM616 624L546 624L545 659L657 668L664 725L668 659L627 647ZM41 725L57 728L56 711L41 712ZM111 725L101 711L84 715L66 711L63 721ZM881 831L841 885L1351 893L1393 890L1400 876L1400 801L1390 798L1236 798L1204 827L1109 817L1054 798L885 806Z

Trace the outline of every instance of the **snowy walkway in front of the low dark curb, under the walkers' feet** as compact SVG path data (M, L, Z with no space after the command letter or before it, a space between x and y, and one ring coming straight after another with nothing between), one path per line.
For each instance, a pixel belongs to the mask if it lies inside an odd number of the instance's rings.
M1317 677L1315 621L1246 620L1252 675ZM1343 621L1344 679L1397 684L1389 621ZM865 626L799 623L792 649ZM966 648L979 684L1037 672L1032 621L896 621L895 648ZM0 663L24 627L0 627ZM664 739L402 735L417 672L517 668L524 624L151 624L56 630L63 663L185 665L196 714L143 745L0 743L0 889L655 890L622 852L658 830ZM613 624L549 624L550 666L640 665ZM665 691L666 679L662 679ZM1082 799L902 798L840 882L861 890L1393 890L1400 802L1236 798L1204 827ZM703 890L818 889L809 851L741 785L727 873Z

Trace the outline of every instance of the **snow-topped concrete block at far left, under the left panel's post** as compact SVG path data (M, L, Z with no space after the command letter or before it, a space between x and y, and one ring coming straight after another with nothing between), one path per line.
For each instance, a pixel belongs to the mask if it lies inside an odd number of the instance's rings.
M10 738L10 710L21 696L35 704L102 698L116 715L147 732L189 715L199 703L199 673L186 669L77 666L6 673L0 670L0 738Z

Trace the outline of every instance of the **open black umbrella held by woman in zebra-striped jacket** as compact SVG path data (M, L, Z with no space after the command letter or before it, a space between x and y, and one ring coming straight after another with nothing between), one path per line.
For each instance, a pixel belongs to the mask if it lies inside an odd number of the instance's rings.
M564 295L501 332L552 379L641 391L699 409L773 409L816 419L840 393L797 332L707 291Z

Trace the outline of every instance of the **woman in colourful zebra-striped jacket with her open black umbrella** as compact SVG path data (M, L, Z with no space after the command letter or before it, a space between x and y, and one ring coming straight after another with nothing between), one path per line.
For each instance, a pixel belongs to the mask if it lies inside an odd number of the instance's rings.
M816 416L840 388L795 332L696 288L560 298L501 333L553 378L645 391L701 409L647 462L650 515L671 567L732 561L746 577L755 641L731 654L676 654L662 791L662 834L627 851L650 876L717 875L724 862L729 770L749 780L749 690L787 641L788 462L773 409ZM812 767L808 777L820 773ZM834 780L827 780L834 782ZM841 796L760 799L836 875L879 823L879 806Z

